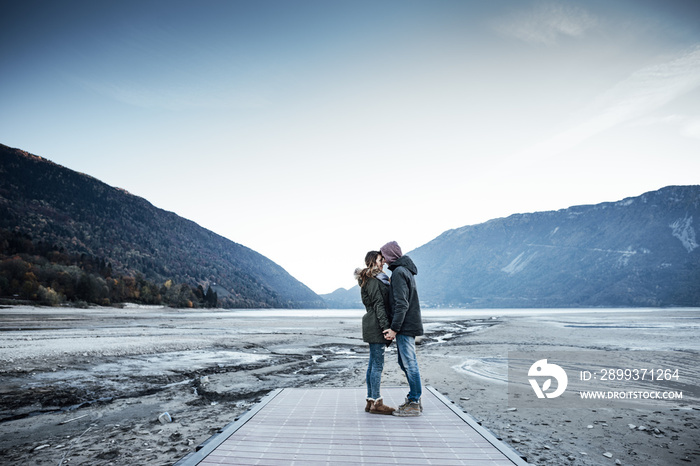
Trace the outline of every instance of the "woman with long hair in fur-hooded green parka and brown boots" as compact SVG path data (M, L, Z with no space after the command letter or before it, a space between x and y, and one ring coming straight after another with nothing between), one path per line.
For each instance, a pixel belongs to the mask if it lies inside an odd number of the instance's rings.
M370 251L365 256L364 269L355 270L360 284L362 304L362 339L369 343L369 365L367 366L367 405L365 411L372 414L392 414L395 408L386 406L382 400L380 385L384 370L384 350L391 344L384 338L384 330L390 328L389 277L382 271L384 257L379 251Z

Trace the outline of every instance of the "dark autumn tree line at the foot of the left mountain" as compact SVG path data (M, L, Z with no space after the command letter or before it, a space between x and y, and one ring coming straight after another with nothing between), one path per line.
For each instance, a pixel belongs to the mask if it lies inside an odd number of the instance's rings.
M104 258L68 253L6 229L0 229L0 297L48 306L131 302L200 308L217 307L219 301L211 286L205 291L202 285L157 284L140 273L118 274Z

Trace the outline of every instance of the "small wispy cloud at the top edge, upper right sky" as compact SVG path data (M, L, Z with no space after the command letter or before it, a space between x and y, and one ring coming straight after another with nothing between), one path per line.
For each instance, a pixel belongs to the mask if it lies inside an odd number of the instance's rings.
M551 46L562 38L581 37L597 25L598 19L579 6L537 2L529 10L514 11L494 27L506 36Z

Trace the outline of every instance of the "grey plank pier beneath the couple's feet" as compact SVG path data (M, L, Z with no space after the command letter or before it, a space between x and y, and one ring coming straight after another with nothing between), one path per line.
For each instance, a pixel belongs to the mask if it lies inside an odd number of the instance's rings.
M407 388L383 388L385 404ZM364 411L364 388L284 388L175 463L211 465L526 465L432 387L420 417Z

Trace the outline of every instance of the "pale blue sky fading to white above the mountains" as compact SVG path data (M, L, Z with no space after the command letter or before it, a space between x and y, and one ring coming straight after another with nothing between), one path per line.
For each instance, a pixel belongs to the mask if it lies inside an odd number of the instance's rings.
M700 184L695 0L29 0L0 21L0 143L321 294L388 241Z

